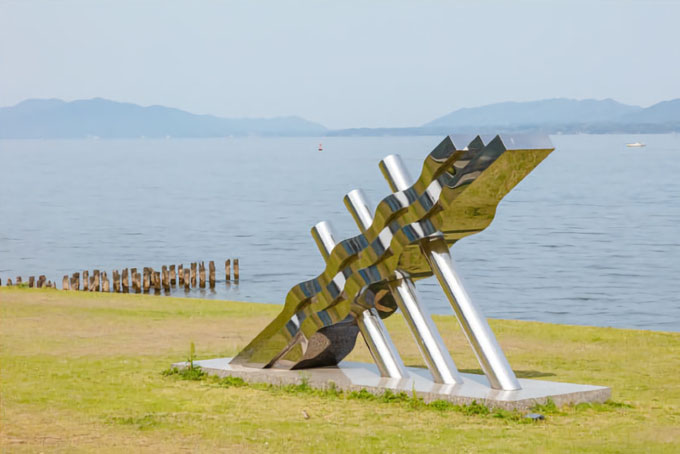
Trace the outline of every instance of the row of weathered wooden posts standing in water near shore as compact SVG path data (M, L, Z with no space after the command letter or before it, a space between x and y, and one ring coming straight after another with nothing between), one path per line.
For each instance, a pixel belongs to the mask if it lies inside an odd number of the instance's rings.
M231 259L224 262L224 274L227 282L231 281ZM191 287L206 287L206 267L205 262L191 263L189 268L184 268L184 265L165 266L163 265L160 271L155 271L151 267L144 267L140 273L137 268L123 269L122 272L113 270L111 281L106 274L106 271L100 272L93 270L92 275L88 271L83 271L82 276L82 290L91 292L110 292L111 284L113 284L113 291L115 293L148 293L151 289L159 293L161 288L165 291L170 291L171 287L184 286L186 290ZM198 278L198 279L197 279ZM234 282L239 280L239 263L238 259L234 259ZM80 273L73 273L71 277L65 275L62 279L61 288L63 290L81 290ZM210 288L215 287L215 262L208 262L207 282ZM21 276L16 278L16 285L22 283ZM57 288L56 283L52 281L45 281L45 276L40 276L37 283L35 277L28 278L28 286L37 288ZM0 285L2 281L0 280ZM12 280L7 280L7 286L12 285Z

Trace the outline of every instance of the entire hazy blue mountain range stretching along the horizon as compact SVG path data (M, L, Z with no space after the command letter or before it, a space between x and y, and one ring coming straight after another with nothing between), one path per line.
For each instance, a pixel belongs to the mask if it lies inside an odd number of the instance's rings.
M101 98L30 99L0 108L0 138L379 136L451 133L680 132L680 99L642 108L613 99L546 99L463 108L421 126L328 130L300 117L220 118Z

